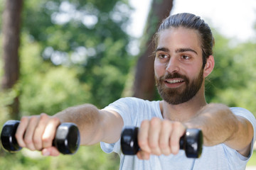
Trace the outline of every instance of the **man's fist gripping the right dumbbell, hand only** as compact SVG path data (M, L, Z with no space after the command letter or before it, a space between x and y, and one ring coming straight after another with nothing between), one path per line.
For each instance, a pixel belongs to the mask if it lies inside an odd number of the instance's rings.
M139 129L137 152L139 159L149 159L150 154L178 154L179 140L186 132L186 127L180 122L152 118L142 121Z

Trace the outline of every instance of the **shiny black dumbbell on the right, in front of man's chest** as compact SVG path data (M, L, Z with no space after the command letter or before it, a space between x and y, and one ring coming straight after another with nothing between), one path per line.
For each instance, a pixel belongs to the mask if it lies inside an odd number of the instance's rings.
M126 127L121 134L121 149L123 154L134 155L139 151L137 140L139 128ZM203 149L203 133L199 129L187 129L179 141L180 149L184 149L186 157L198 158Z

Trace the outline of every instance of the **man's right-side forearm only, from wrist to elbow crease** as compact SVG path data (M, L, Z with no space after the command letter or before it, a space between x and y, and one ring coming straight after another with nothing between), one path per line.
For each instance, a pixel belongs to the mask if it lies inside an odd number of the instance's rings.
M203 145L213 146L227 142L238 131L238 119L223 104L208 104L185 123L188 128L203 131Z

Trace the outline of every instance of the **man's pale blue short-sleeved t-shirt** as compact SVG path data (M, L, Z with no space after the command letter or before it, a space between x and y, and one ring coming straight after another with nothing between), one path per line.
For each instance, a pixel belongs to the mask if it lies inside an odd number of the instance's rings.
M139 98L120 98L119 100L111 103L105 109L116 111L119 113L123 120L124 126L137 126L139 127L142 120L151 120L153 117L162 118L159 101L144 101ZM245 108L230 108L235 115L240 115L250 121L254 129L254 137L252 140L255 142L256 136L256 120L254 115L247 111ZM196 169L196 170L240 170L245 169L247 161L252 156L243 157L235 149L231 149L224 144L215 145L214 147L203 147L201 157L198 159L187 158L183 150L180 150L176 155L151 155L149 160L140 160L137 156L127 156L122 154L120 149L120 140L107 144L100 142L104 152L116 152L120 157L119 169L145 169L145 170L166 170L166 169Z

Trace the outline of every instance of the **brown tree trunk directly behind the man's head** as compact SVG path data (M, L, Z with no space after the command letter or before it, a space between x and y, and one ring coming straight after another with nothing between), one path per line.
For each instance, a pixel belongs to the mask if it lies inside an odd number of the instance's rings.
M142 41L141 46L142 55L140 55L136 67L133 89L134 97L147 100L154 99L154 56L152 56L154 43L152 40L161 21L169 16L172 6L172 0L153 0L151 4L151 11L149 12L144 31L144 41Z

